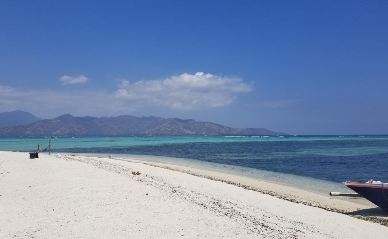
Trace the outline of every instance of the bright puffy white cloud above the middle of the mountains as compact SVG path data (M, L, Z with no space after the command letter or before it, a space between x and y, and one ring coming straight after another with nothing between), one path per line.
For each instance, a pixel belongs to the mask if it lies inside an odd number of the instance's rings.
M140 80L130 84L123 80L115 95L141 106L165 106L179 110L221 107L232 103L236 94L251 91L238 77L197 72L184 73L162 80Z

